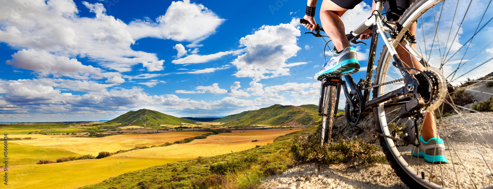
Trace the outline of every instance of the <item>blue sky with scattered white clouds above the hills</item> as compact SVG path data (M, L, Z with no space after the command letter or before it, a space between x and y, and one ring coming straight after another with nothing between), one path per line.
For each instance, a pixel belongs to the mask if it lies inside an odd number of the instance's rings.
M347 30L370 15L369 2L343 16ZM0 120L109 120L141 108L226 116L317 104L325 43L298 24L305 3L0 0ZM366 47L355 47L365 67Z

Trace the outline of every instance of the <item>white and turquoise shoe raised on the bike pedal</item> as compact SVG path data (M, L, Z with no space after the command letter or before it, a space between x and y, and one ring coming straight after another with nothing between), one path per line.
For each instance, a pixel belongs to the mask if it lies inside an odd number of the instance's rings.
M358 72L359 62L357 60L356 49L346 47L341 53L334 55L323 64L322 69L318 72L318 81L326 77L336 77L339 75L351 75Z

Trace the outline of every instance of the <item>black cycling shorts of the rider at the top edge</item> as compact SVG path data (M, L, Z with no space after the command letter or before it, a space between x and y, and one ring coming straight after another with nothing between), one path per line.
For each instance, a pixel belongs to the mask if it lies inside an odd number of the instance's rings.
M363 0L331 0L342 8L353 9ZM387 13L388 21L397 21L404 14L404 11L409 8L409 0L387 0L384 3L384 9ZM370 5L371 6L371 5Z

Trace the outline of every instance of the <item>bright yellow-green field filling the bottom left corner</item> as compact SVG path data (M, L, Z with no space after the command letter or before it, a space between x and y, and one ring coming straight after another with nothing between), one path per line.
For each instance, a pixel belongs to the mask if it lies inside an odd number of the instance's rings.
M77 189L123 173L180 160L186 159L108 157L16 166L8 170L8 186L2 184L2 189Z

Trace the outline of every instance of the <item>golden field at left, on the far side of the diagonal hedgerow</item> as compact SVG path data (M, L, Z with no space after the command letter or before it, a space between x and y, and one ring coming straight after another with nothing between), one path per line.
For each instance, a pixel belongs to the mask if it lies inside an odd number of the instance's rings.
M97 156L100 152L116 152L118 150L128 150L136 146L160 145L166 142L175 142L188 137L202 135L206 132L163 132L153 134L118 134L101 138L88 137L59 137L64 135L41 135L32 140L17 140L11 143L21 145L32 145L38 147L58 148L70 151L76 154L91 154ZM24 137L33 137L38 135L24 135ZM70 136L70 135L68 135ZM14 137L14 135L9 136Z

